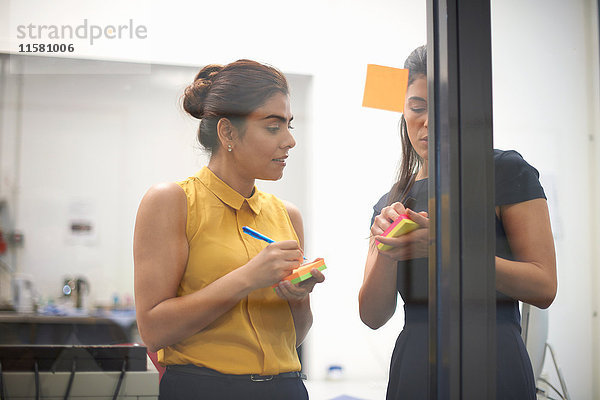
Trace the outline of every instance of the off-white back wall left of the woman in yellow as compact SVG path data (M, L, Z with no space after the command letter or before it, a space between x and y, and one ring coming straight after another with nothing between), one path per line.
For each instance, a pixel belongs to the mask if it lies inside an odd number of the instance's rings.
M43 66L44 59L27 64ZM60 64L69 71L81 63ZM192 74L181 74L179 85L161 84L161 71L154 84L145 76L25 75L19 104L16 76L9 76L4 109L22 109L22 129L17 136L10 124L4 133L22 144L18 156L4 147L15 159L2 170L3 195L25 235L15 267L35 276L44 298L58 295L69 275L91 281L92 303L132 297L131 235L141 196L152 183L192 174L203 159L194 153L191 120L177 108L178 88ZM90 239L69 233L76 206L93 223Z

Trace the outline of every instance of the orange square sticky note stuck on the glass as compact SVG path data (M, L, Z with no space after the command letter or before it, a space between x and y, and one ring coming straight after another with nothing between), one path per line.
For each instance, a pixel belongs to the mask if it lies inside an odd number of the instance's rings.
M407 85L407 69L368 64L363 107L403 112Z

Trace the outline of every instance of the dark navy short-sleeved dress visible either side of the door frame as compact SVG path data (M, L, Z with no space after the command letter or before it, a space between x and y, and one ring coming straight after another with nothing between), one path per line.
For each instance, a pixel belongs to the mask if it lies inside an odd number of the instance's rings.
M496 206L546 198L539 174L516 151L494 150ZM371 220L387 205L388 194L373 207ZM406 196L414 211L427 211L427 179L416 181ZM496 255L514 260L502 221L496 218ZM387 399L428 399L427 258L398 262L397 288L404 300L404 328L390 365ZM516 300L496 292L497 400L535 400L531 362L521 339Z

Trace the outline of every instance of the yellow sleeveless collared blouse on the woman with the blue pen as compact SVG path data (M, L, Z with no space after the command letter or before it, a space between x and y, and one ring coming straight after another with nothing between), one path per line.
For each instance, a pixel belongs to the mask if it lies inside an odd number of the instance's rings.
M178 184L187 196L189 257L177 296L202 289L267 246L243 233L243 226L275 241L298 241L284 204L271 194L255 188L244 198L207 167ZM300 370L290 307L270 287L251 292L202 331L159 350L158 360L236 375Z

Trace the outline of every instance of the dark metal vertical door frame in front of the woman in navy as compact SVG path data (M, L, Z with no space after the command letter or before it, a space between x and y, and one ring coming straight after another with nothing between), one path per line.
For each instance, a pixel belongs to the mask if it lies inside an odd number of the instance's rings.
M495 399L490 4L427 0L431 399Z

